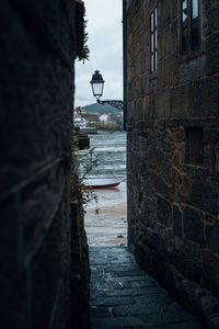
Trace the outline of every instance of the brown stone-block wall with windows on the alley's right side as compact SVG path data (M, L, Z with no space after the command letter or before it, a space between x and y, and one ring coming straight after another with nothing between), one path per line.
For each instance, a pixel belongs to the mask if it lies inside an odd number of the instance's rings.
M128 1L129 248L209 328L219 326L219 3L183 60L180 1ZM158 71L150 12L158 7Z

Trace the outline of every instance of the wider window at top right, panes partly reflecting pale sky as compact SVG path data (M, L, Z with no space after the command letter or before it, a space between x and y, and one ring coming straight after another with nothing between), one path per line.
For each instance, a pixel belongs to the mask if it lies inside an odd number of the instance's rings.
M181 0L181 48L186 55L200 47L199 0Z

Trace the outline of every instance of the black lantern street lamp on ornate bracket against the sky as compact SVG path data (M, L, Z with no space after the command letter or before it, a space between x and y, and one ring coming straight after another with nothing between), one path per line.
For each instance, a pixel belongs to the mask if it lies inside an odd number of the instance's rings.
M100 98L103 95L103 87L104 87L104 80L100 71L95 71L92 76L92 79L90 81L91 88L93 91L93 95L96 99L96 102L104 105L104 104L110 104L117 110L123 110L123 101L117 101L117 100L105 100L101 101Z

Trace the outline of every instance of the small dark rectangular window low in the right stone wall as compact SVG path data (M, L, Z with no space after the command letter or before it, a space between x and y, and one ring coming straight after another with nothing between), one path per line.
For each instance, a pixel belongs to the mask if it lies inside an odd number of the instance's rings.
M185 128L186 149L185 162L192 164L201 164L204 146L203 146L203 128L189 127Z

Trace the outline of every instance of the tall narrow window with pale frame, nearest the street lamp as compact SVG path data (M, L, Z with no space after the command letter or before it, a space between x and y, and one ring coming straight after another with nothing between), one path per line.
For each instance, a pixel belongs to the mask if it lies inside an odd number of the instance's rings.
M158 9L157 7L151 12L151 33L150 33L150 63L151 72L158 69Z

